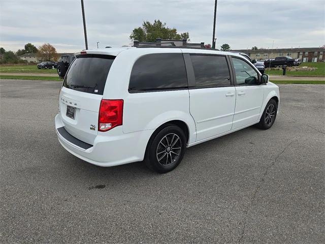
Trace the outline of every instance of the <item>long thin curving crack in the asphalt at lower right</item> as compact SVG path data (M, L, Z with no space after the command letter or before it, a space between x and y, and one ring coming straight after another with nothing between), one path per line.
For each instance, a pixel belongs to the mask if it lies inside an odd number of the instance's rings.
M298 138L299 139L299 138ZM255 198L256 198L256 195L257 195L257 192L259 191L259 189L261 189L261 187L262 187L262 184L264 183L264 181L265 181L265 177L268 175L268 173L269 173L269 170L275 165L275 163L276 163L276 161L278 160L278 158L280 157L280 156L282 156L283 154L284 154L284 151L291 145L291 144L293 144L295 141L298 141L298 139L293 139L293 140L291 140L291 142L289 142L284 148L283 148L283 150L282 151L280 151L280 153L277 155L277 156L275 156L275 158L274 158L274 160L273 160L273 162L266 168L266 170L265 170L265 172L263 173L263 175L262 175L262 178L261 178L261 180L259 181L259 183L257 184L257 186L256 186L256 188L255 188L255 190L254 190L254 193L253 193L253 196L252 196L252 198L251 198L251 201L250 201L250 204L248 205L248 207L247 207L247 209L244 211L244 220L243 220L243 229L242 229L242 233L241 233L241 235L240 235L240 237L239 237L239 239L238 239L238 243L240 243L242 240L243 240L243 238L244 238L244 234L245 234L245 229L246 229L246 224L247 224L247 220L246 220L246 218L247 218L247 212L248 212L248 210L249 210L249 208L253 205L253 202L255 201Z

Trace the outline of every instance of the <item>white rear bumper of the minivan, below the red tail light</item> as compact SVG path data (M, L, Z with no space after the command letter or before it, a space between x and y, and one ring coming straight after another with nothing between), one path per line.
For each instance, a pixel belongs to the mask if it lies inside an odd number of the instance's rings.
M108 132L99 132L93 145L90 145L64 130L60 114L55 116L55 131L60 144L69 153L88 163L104 167L142 161L153 133L153 130L123 133L119 126Z

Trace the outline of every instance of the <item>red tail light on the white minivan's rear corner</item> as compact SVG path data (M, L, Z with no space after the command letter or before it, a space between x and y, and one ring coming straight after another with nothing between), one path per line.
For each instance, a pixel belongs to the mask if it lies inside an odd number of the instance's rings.
M108 131L122 125L123 100L102 99L98 118L98 130Z

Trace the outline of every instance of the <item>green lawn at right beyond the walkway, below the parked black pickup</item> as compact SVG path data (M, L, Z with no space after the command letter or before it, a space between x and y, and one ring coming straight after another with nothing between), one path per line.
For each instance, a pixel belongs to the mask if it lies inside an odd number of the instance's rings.
M316 67L317 70L313 71L286 71L287 76L324 76L325 77L325 62L318 62L318 63L301 63L299 67ZM282 70L269 70L267 69L265 73L267 75L282 75Z

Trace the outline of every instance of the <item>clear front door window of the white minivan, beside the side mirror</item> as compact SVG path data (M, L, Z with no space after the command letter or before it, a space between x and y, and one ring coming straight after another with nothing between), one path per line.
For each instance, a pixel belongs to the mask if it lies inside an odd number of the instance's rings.
M258 84L258 73L244 60L233 57L237 85Z

